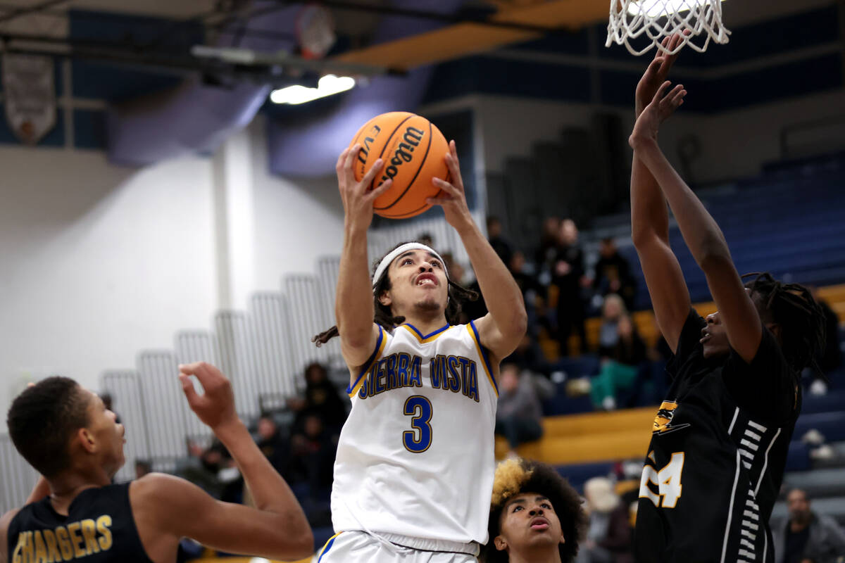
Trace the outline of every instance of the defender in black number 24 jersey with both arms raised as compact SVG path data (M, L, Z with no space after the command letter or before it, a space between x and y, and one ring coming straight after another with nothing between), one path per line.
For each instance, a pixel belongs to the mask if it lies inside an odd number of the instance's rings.
M659 55L646 70L630 136L633 238L675 351L641 479L635 557L770 563L768 522L801 406L799 373L824 341L822 316L798 284L768 273L743 284L722 231L663 156L658 128L686 94L678 85L666 95L672 62ZM690 306L669 247L667 201L718 306L706 319Z

